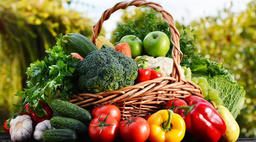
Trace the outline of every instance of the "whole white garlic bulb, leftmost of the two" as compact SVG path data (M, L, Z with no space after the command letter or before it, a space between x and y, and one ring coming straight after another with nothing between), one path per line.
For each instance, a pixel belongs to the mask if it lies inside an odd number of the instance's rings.
M14 142L26 141L33 132L32 120L28 115L17 116L10 122L11 139Z

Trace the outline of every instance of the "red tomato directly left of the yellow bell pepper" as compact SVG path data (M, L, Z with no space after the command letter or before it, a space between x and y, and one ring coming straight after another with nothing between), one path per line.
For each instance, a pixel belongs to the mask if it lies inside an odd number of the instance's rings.
M120 135L125 142L144 142L148 139L150 128L147 120L142 117L126 119L120 126ZM127 125L128 124L128 125Z

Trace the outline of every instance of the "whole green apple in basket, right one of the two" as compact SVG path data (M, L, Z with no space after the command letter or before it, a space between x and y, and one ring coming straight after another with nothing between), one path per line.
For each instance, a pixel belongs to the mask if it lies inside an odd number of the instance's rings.
M164 56L170 49L170 40L163 32L151 32L144 38L143 47L148 56Z

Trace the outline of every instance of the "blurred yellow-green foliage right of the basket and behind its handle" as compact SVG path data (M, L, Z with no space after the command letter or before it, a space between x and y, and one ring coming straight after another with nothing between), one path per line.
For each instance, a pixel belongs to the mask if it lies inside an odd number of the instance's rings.
M236 118L240 126L239 137L256 138L256 1L247 4L247 9L239 13L231 12L231 8L232 4L217 16L194 20L187 27L194 27L199 36L192 49L212 61L222 62L238 84L244 86L246 100ZM143 9L123 10L120 23L145 17L148 11ZM180 23L176 22L176 27L182 31ZM190 34L189 29L187 32ZM111 41L116 42L116 39L112 36Z

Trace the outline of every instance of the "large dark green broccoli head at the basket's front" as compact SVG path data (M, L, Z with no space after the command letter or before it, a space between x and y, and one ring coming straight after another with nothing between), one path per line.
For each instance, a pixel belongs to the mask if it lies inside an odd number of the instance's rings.
M134 59L113 48L102 46L78 62L79 88L98 93L134 84L138 67Z

